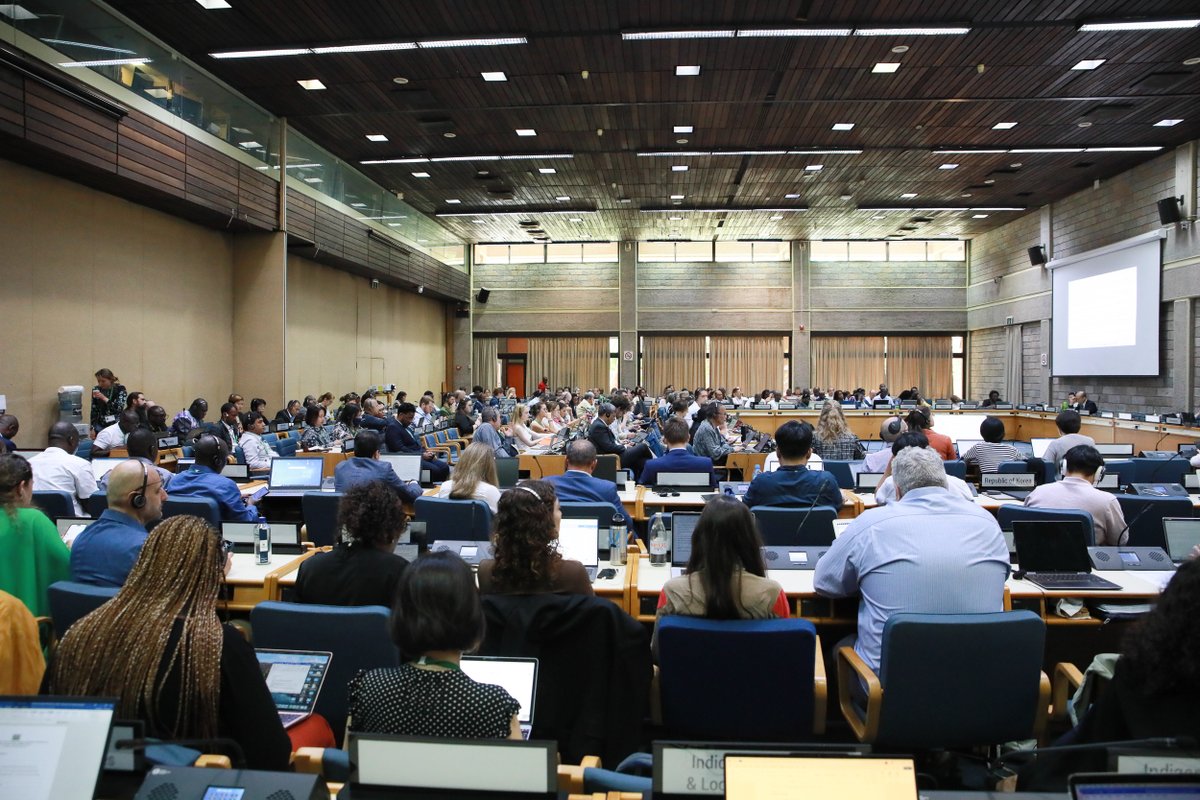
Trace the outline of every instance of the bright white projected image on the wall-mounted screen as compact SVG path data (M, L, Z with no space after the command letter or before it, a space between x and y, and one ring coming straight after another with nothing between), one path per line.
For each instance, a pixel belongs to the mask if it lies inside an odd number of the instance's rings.
M1067 288L1067 349L1133 347L1138 319L1138 267L1072 281Z

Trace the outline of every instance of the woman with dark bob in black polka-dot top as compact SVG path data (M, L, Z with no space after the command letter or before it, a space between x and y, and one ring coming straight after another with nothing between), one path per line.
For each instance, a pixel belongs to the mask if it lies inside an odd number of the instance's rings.
M484 608L470 567L430 553L401 578L391 639L404 663L360 673L349 684L349 729L401 736L521 739L521 704L460 668L484 638Z

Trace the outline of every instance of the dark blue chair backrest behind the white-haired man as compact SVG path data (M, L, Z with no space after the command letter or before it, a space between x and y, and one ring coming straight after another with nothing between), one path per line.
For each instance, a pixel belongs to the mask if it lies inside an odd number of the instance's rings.
M1044 645L1045 622L1033 612L893 614L883 626L876 744L932 748L1028 739Z

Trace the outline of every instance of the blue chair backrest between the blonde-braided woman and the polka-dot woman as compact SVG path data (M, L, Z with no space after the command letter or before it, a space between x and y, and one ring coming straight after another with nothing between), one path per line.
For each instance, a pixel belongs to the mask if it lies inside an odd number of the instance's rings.
M338 744L346 730L347 685L364 669L398 667L400 651L388 632L384 606L308 606L266 601L250 612L256 648L328 650L334 654L317 714L325 717Z

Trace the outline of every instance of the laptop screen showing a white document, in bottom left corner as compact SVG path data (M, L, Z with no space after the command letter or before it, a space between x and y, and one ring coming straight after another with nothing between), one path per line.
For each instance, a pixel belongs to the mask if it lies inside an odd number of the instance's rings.
M4 796L94 796L115 712L112 698L0 697Z

